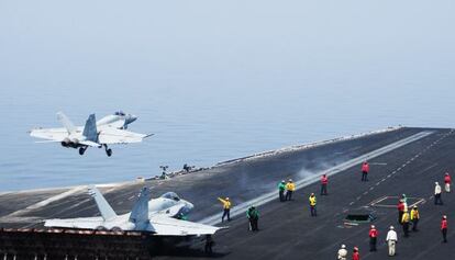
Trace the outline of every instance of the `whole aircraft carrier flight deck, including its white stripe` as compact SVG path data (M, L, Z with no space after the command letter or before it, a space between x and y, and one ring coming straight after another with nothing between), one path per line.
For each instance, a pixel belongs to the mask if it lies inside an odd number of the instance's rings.
M200 239L189 247L160 244L157 247L162 250L149 256L153 259L330 260L335 259L342 244L349 252L354 246L359 247L362 259L386 259L385 236L390 225L396 226L399 236L395 259L450 259L455 256L450 245L455 233L448 229L450 244L442 244L439 225L444 214L448 223L455 222L455 194L443 193L444 205L434 205L433 190L435 181L443 183L444 172L453 171L454 158L453 129L397 127L263 152L208 169L181 171L165 180L134 180L99 189L118 214L130 212L138 191L146 185L152 197L173 191L193 203L189 221L229 226L213 237L212 256L203 252ZM360 165L365 160L370 165L369 180L362 182ZM328 196L319 195L322 173L329 174ZM279 202L277 184L288 179L297 184L293 200ZM312 192L318 197L317 217L310 216L308 206ZM397 223L396 204L403 193L411 204L419 205L421 214L420 231L411 231L409 238L402 237ZM229 196L233 202L233 219L229 223L220 223L219 196ZM247 229L245 212L251 205L256 205L260 214L257 233ZM348 219L353 214L373 217L370 222L356 222ZM43 221L48 218L98 215L87 186L0 193L2 234L42 230ZM368 251L370 224L379 230L377 252ZM16 246L4 237L0 236L0 257L4 253L12 259ZM129 239L136 241L134 234ZM84 259L82 253L78 259Z

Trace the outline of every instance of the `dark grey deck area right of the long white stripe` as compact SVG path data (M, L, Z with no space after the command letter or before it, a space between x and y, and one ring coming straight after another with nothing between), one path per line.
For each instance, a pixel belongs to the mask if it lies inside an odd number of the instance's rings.
M215 237L215 257L331 260L336 259L340 245L345 244L349 250L359 247L362 259L388 259L385 237L388 227L393 225L399 235L395 259L454 259L455 233L450 229L448 244L442 244L440 222L443 214L448 216L450 223L455 222L455 194L443 194L443 206L434 205L432 197L434 181L443 183L444 172L455 166L455 135L445 136L446 133L439 131L373 160L380 163L371 167L368 182L360 182L359 166L331 178L329 196L318 195L318 217L309 216L307 204L309 193L319 192L319 184L313 184L299 190L292 202L276 201L262 206L260 230L256 234L247 231L245 218L234 221L228 231ZM395 207L368 206L379 197L402 193L425 200L420 204L420 231L412 233L409 238L402 237ZM391 201L392 205L396 203L397 200ZM377 216L374 222L380 234L377 252L368 251L369 224L343 225L346 211L353 210L370 211ZM191 259L191 253L198 251L181 249L169 259Z

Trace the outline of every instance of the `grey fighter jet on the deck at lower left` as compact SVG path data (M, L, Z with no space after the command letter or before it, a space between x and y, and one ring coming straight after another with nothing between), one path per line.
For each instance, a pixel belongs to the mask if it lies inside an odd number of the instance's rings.
M133 210L130 213L116 215L97 188L91 185L88 191L95 199L101 216L47 219L44 226L113 231L149 231L155 236L167 237L213 235L217 230L223 228L182 221L181 216L186 216L193 208L193 205L180 199L174 192L151 200L149 189L143 188Z

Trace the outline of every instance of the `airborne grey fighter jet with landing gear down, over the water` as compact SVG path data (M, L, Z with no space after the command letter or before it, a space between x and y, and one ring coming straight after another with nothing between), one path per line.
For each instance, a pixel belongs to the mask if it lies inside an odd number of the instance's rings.
M57 118L64 127L35 128L30 135L46 139L37 143L60 143L63 147L79 149L79 155L84 155L88 147L104 147L108 156L112 155L112 149L108 148L108 145L140 143L151 136L126 131L127 125L137 117L123 112L115 112L98 122L95 114L91 114L84 127L75 126L62 112L57 113Z

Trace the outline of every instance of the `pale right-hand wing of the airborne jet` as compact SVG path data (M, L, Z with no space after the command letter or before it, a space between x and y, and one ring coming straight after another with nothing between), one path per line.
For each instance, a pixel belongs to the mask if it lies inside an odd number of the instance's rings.
M98 143L106 145L141 143L148 136L113 127L103 127L98 135Z

